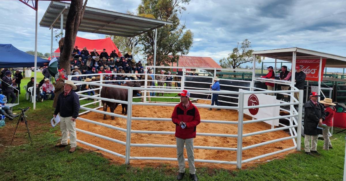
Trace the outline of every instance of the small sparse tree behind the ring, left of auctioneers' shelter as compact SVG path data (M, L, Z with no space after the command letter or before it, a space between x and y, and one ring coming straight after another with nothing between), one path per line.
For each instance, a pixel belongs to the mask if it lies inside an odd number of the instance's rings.
M237 43L237 47L233 49L232 53L228 54L227 58L221 59L220 66L222 68L237 68L243 63L252 62L253 56L252 52L254 50L251 49L251 42L248 39L245 39L239 47L239 42ZM256 61L258 63L261 62L261 57L257 56Z

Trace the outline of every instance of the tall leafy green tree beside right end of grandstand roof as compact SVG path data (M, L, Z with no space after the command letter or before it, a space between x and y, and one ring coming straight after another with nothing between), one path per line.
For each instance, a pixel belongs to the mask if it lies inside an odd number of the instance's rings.
M142 0L137 11L139 16L171 21L157 29L156 65L167 66L176 62L180 55L188 54L193 43L193 33L180 23L179 15L190 0ZM148 56L147 64L153 65L155 32L149 31L140 36L144 54Z

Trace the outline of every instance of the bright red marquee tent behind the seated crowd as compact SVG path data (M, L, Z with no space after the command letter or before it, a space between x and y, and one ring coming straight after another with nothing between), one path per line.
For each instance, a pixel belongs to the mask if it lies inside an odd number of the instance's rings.
M86 47L89 53L92 52L94 48L98 53L101 53L105 48L108 55L112 53L113 50L116 50L119 57L122 56L117 46L113 43L113 41L110 38L90 40L86 38L76 37L74 46L78 46L78 49L80 51L83 50L83 47ZM60 49L58 48L54 51L54 53L55 55L60 55Z

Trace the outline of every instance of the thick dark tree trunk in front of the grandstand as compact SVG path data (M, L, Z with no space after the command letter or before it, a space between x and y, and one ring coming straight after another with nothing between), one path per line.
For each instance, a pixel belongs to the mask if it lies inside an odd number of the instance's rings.
M83 0L74 0L71 1L71 6L69 13L67 14L66 26L65 26L65 37L64 37L64 48L60 56L60 68L64 68L67 72L67 75L70 74L70 58L74 42L76 40L78 28L83 17L85 10L86 2L85 0L84 7Z

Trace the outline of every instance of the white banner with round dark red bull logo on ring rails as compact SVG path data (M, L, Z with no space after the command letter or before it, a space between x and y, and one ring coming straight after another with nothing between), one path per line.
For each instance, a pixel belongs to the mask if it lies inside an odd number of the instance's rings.
M248 92L247 90L239 89L239 92ZM279 104L280 101L276 96L266 94L245 94L244 106L252 105L265 105L265 104ZM244 114L249 115L255 119L271 118L280 116L280 106L272 106L265 108L244 109ZM264 121L267 124L279 126L279 119Z

